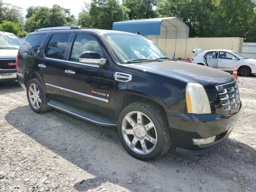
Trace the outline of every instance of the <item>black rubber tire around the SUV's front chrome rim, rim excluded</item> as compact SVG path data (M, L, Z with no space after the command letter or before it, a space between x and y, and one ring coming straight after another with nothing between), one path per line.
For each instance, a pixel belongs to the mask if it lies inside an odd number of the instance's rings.
M142 112L142 113L146 114L150 118L150 120L152 120L152 122L155 125L156 132L157 132L157 144L156 144L156 147L154 148L154 150L150 154L146 154L146 155L137 154L136 152L134 152L133 150L131 150L129 148L129 146L126 144L126 142L123 138L123 135L122 135L122 121L124 119L124 116L126 116L126 114L128 114L129 112L132 112L132 111L139 111L139 112ZM121 141L122 145L124 146L126 151L128 151L135 158L138 158L140 160L153 160L153 159L157 158L158 155L162 151L163 144L164 144L164 134L163 134L161 125L159 123L159 120L154 115L154 113L152 113L147 108L144 108L144 107L141 107L141 106L138 106L138 105L130 105L130 106L127 106L126 108L124 108L124 110L122 110L122 112L120 113L120 116L118 118L117 131L118 131L118 136L120 138L120 141Z

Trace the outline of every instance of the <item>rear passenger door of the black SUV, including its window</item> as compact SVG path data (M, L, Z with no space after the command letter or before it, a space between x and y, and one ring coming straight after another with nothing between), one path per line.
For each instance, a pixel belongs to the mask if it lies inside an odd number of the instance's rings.
M52 34L42 53L43 60L38 64L46 92L52 100L62 100L64 58L66 58L66 48L69 40L69 33Z

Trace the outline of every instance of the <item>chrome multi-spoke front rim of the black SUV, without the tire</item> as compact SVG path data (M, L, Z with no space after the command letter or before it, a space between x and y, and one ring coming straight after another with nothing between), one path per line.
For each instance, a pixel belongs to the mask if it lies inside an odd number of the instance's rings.
M126 114L122 121L122 135L129 148L138 154L149 154L156 147L156 128L142 112Z

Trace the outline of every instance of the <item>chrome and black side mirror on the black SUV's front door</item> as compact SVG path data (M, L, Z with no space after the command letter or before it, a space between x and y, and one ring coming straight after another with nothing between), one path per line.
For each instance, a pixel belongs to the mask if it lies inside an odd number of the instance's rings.
M99 68L102 68L106 61L106 59L102 59L100 57L100 54L93 51L85 51L79 55L79 62L90 65L98 65Z

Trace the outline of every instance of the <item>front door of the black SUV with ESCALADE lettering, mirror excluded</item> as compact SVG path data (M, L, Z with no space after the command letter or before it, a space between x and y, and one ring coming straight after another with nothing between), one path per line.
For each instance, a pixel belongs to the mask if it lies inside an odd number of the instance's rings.
M66 102L82 110L109 116L113 66L108 60L104 68L79 62L79 55L87 51L97 52L101 58L106 58L94 36L75 34L65 64L63 92Z

